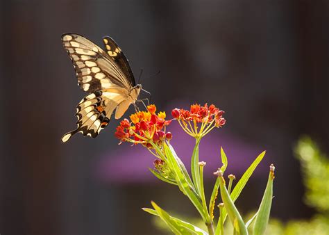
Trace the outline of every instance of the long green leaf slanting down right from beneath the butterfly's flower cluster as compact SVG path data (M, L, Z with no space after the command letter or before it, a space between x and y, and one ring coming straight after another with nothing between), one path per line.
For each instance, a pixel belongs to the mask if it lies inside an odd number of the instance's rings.
M205 222L209 221L209 215L205 212L202 206L201 198L199 194L196 193L195 188L193 185L189 184L188 179L186 179L185 174L183 173L183 169L178 163L178 157L176 158L174 154L171 152L171 149L168 147L166 143L163 144L165 149L165 154L167 158L167 164L169 168L174 171L176 176L176 182L180 190L189 197L189 200L194 204L196 209L199 211L201 217Z

